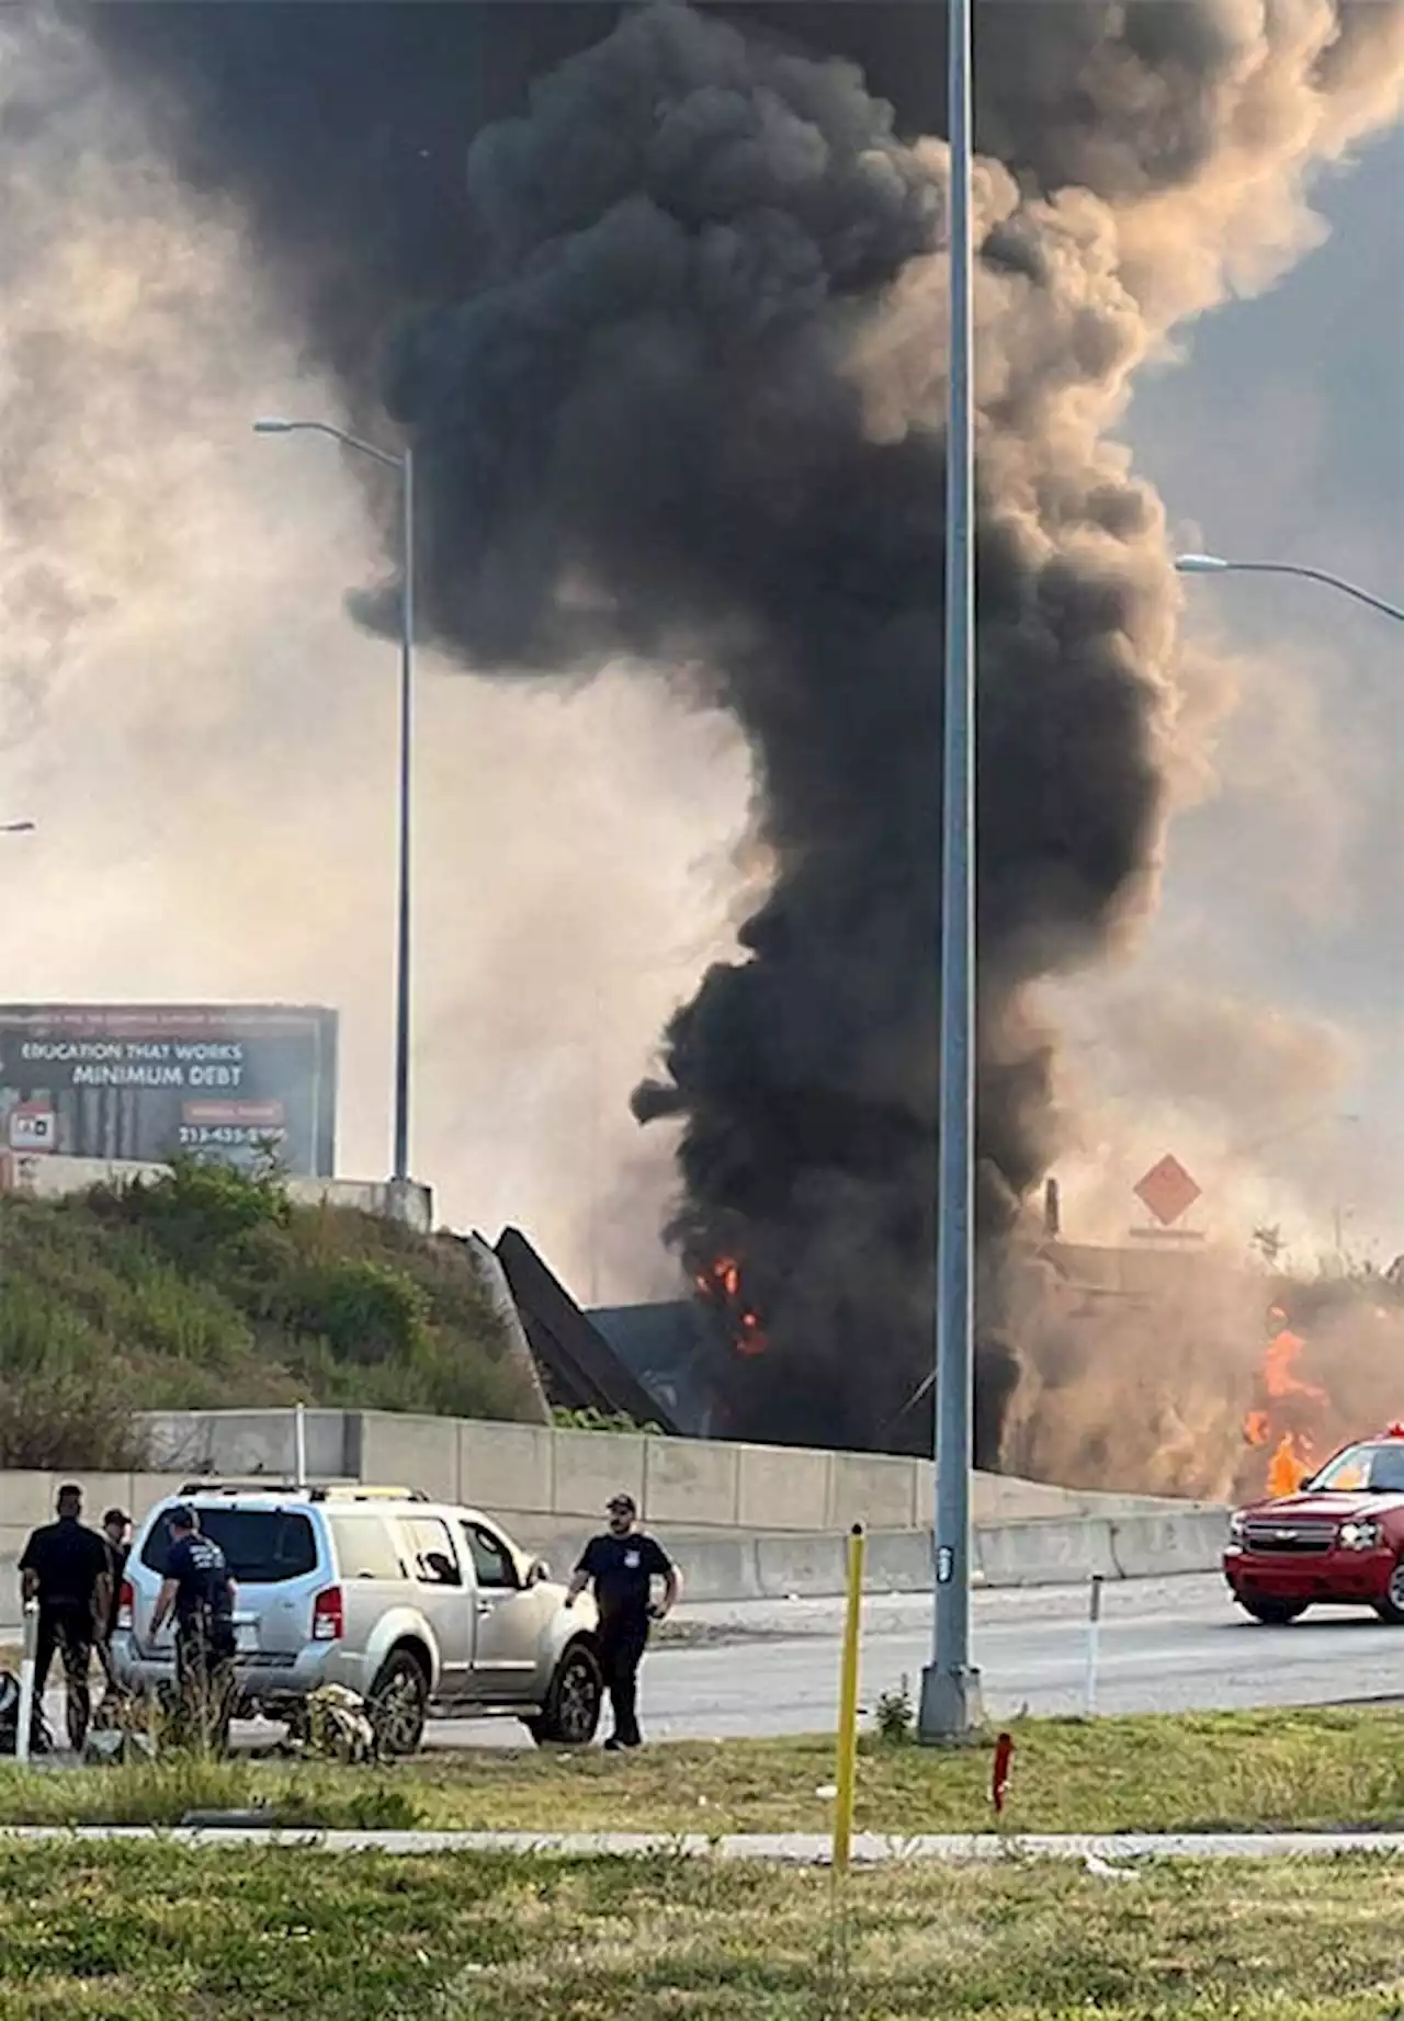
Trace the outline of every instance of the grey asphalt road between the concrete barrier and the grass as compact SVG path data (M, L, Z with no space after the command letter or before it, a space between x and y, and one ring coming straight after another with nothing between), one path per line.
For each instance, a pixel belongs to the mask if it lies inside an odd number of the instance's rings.
M901 1677L919 1692L931 1647L931 1603L867 1603L863 1696L871 1708ZM689 1607L691 1643L655 1647L642 1673L644 1728L655 1740L806 1734L834 1724L838 1601ZM986 1708L1008 1718L1081 1712L1087 1591L976 1595L976 1661ZM1370 1613L1321 1609L1287 1629L1248 1621L1218 1574L1129 1580L1103 1589L1099 1712L1188 1712L1404 1696L1404 1629ZM517 1744L515 1722L444 1720L432 1746Z

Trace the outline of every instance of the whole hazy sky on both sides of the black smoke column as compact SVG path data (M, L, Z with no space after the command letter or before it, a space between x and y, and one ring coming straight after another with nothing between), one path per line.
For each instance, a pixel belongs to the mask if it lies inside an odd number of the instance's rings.
M133 115L79 85L36 131L0 125L0 816L40 825L0 839L0 996L331 1002L341 1170L378 1176L396 655L341 604L376 574L376 527L329 445L248 428L333 394L240 218L176 190ZM1180 546L1404 600L1400 188L1396 133L1321 180L1315 253L1143 376L1123 435ZM59 428L32 424L36 374ZM1277 1223L1307 1255L1339 1211L1388 1261L1404 635L1307 584L1186 580L1184 610L1160 911L1048 992L1069 1233L1143 1219L1131 1182L1174 1150L1204 1184L1192 1227ZM1210 655L1232 709L1198 679ZM521 1225L590 1297L673 1283L667 1136L626 1103L764 877L749 796L729 724L638 669L525 691L422 657L414 1168L444 1221Z

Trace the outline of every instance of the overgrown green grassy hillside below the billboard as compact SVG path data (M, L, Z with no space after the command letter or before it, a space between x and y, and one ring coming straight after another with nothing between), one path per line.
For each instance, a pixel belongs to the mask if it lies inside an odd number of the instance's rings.
M133 1411L297 1401L531 1411L450 1237L200 1164L121 1192L0 1196L0 1465L139 1465Z

